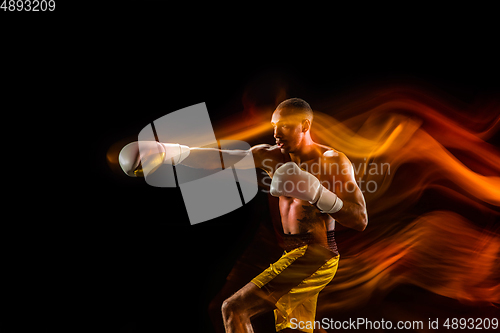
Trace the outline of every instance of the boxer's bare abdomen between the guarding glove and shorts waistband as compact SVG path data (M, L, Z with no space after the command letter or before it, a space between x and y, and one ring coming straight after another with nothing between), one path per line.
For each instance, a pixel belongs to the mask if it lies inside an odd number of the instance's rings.
M335 229L335 220L307 201L281 196L279 206L285 234L317 233L326 238L326 232Z

